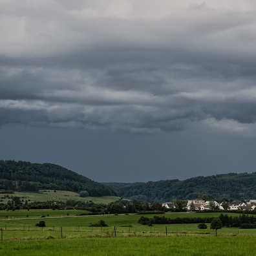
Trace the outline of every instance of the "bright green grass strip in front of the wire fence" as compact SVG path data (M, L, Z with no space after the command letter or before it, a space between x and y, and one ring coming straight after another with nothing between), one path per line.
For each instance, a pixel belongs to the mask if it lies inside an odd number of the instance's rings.
M116 237L0 242L5 256L254 256L255 237Z

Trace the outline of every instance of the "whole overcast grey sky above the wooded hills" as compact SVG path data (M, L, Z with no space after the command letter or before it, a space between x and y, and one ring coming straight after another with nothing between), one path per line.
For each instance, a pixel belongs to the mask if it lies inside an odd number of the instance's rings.
M256 171L256 1L0 0L0 158L99 182Z

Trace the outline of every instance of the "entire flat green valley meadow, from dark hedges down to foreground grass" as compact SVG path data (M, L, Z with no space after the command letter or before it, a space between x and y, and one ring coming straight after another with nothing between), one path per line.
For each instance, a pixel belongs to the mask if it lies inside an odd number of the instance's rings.
M222 228L215 237L209 224L208 229L198 229L197 224L149 227L138 224L142 215L77 216L84 212L0 211L0 255L255 255L256 229ZM24 217L27 213L29 217ZM165 217L219 217L219 213L166 213ZM36 226L40 220L45 228ZM89 227L99 220L109 226Z

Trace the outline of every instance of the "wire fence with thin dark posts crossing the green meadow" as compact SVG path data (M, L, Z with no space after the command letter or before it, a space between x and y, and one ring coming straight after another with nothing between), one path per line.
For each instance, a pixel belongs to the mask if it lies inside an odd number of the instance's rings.
M211 235L208 231L186 232L178 229L169 229L167 226L157 231L152 227L139 229L132 227L32 227L25 225L23 229L1 228L1 241L4 240L32 240L32 239L69 239L86 237L152 237L152 236L189 236Z

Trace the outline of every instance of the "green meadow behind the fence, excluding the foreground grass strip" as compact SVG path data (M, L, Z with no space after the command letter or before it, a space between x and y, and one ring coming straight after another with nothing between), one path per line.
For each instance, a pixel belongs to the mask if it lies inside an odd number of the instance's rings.
M107 233L112 233L116 227L116 236L119 235L165 235L187 234L213 235L214 231L209 229L198 229L197 224L155 224L152 227L138 224L138 219L142 215L96 215L96 216L77 216L85 213L82 210L19 210L19 211L0 211L0 229L3 229L5 239L20 237L22 239L35 237L47 238L48 235L60 237L59 231L63 229L66 237L87 237L100 236L106 237ZM8 214L8 215L6 215ZM26 214L29 214L26 217ZM230 215L237 215L229 213ZM39 216L44 215L44 218ZM154 215L147 215L153 217ZM162 215L159 215L162 216ZM219 217L219 213L165 213L165 217L175 219L177 217ZM36 224L44 220L45 228L38 228ZM106 228L91 228L99 220L104 220L108 225ZM51 233L53 232L53 233ZM222 228L220 235L256 235L255 229Z

